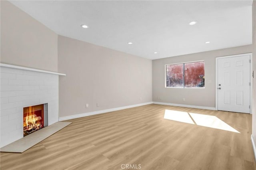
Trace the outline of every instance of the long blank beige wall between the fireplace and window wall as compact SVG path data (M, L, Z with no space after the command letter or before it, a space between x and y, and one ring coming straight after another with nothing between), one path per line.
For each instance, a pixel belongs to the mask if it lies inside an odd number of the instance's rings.
M60 117L152 102L149 59L58 36L58 71Z

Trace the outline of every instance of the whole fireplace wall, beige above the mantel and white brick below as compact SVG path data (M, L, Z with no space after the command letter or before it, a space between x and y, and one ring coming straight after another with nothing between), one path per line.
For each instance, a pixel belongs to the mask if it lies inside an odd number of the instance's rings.
M1 63L58 71L58 35L8 1L0 1ZM23 137L23 107L48 103L58 121L58 75L1 67L0 147Z

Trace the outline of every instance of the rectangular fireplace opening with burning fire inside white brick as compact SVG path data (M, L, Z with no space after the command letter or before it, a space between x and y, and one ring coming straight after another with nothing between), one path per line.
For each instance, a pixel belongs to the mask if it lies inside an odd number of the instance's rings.
M47 103L23 108L23 136L48 126Z

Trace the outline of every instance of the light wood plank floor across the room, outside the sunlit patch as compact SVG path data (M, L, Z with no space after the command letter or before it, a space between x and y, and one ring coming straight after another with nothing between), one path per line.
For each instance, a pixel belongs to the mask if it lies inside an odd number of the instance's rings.
M164 119L165 109L213 115L240 133ZM69 121L22 154L1 152L1 170L255 168L250 114L152 104Z

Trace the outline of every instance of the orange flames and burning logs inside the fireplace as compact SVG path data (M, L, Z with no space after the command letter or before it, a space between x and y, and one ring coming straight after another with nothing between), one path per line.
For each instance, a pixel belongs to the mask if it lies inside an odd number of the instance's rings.
M29 109L29 110L28 110ZM27 109L27 115L24 117L23 121L23 132L26 133L32 133L40 128L42 128L41 124L41 117L36 116L34 113L34 107L32 108L31 106Z

